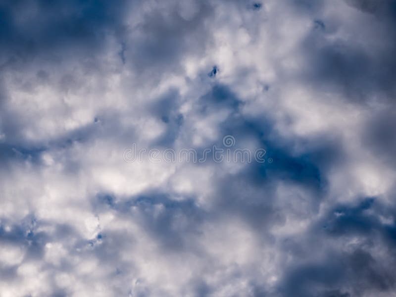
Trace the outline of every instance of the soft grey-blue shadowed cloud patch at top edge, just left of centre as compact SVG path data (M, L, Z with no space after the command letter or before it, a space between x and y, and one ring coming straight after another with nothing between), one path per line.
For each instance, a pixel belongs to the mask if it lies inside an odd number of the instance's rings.
M172 4L166 14L153 9L131 32L137 36L126 43L125 59L146 80L161 77L165 72L181 71L186 53L205 51L210 37L205 23L210 20L212 7L207 1L196 5L197 12L189 19L183 18Z

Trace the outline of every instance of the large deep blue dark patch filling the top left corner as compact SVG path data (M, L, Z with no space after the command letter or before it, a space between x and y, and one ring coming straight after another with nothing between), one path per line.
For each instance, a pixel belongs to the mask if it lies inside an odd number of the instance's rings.
M73 50L87 57L100 50L106 31L122 30L125 2L2 1L0 40L3 63L22 63L36 56L63 57ZM68 52L72 54L72 52Z

